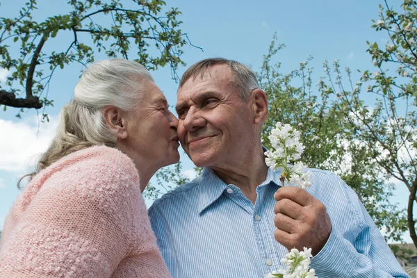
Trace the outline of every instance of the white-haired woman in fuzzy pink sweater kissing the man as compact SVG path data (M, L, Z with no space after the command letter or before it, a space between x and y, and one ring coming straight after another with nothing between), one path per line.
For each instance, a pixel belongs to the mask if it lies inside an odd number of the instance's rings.
M6 218L0 277L170 277L141 193L179 161L176 131L145 67L88 67Z

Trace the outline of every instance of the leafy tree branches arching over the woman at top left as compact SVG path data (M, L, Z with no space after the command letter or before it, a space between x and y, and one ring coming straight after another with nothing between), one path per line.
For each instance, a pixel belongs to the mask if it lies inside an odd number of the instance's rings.
M54 72L74 62L91 63L101 51L109 58L133 56L149 70L170 65L174 77L177 66L184 65L181 48L190 42L179 29L177 8L161 15L165 1L70 0L67 5L67 14L40 22L33 17L36 0L28 0L15 18L0 17L0 67L12 73L7 88L0 87L4 109L53 105L48 88ZM69 40L67 48L45 50L60 34Z

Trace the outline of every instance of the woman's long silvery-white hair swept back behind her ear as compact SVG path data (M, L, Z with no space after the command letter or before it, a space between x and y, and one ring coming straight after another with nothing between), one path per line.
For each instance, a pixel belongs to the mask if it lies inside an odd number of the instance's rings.
M93 145L115 147L117 137L104 120L105 106L131 111L142 96L142 85L154 81L143 65L111 59L93 63L85 70L74 90L74 99L60 112L58 131L51 145L40 156L29 181L58 159ZM17 186L19 187L20 179Z

